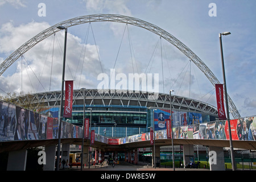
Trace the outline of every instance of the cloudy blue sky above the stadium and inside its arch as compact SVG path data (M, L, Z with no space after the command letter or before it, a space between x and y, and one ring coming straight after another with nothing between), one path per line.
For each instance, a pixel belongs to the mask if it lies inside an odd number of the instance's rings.
M39 3L46 5L46 16L38 15ZM217 16L209 16L210 3L216 4ZM256 114L255 7L254 0L0 0L0 63L27 40L56 23L90 14L120 14L150 22L174 35L196 53L222 82L218 34L230 31L231 35L222 37L227 89L242 117L247 117ZM87 30L88 42L85 42ZM126 32L122 39L124 30ZM189 63L183 53L164 40L161 40L164 53L160 54L160 39L155 34L142 28L109 22L92 23L92 27L82 24L69 28L68 32L68 67L65 79L75 80L75 89L97 87L97 75L101 73L100 62L108 74L117 57L117 65L114 67L117 73L132 73L133 67L141 73L145 71L150 57L154 57L153 64L148 68L152 73L159 73L159 92L168 93L172 87L174 94L216 106L214 86L203 73L195 64ZM53 36L49 37L25 53L23 59L20 58L11 65L0 78L0 86L4 90L0 91L1 94L20 92L21 89L24 92L60 90L63 38L64 32L58 32L55 42ZM85 45L85 68L80 69L81 50ZM131 45L134 57L130 54ZM152 53L155 47L158 55ZM164 72L161 67L162 60ZM131 64L135 61L136 65ZM21 63L23 67L20 66ZM54 73L51 77L50 69ZM40 78L44 89L40 88L33 74ZM172 85L174 82L175 85Z

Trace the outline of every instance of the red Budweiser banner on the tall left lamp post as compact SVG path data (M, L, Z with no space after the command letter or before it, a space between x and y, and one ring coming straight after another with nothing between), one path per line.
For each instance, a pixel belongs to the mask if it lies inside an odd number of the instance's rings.
M65 106L63 117L72 117L72 102L73 102L73 80L65 81Z

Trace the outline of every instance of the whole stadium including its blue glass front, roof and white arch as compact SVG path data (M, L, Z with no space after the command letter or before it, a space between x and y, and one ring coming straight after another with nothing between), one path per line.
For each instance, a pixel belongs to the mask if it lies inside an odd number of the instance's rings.
M220 83L203 61L201 61L187 46L174 38L174 36L161 28L154 26L154 24L122 15L81 16L56 24L55 26L40 32L40 34L23 44L23 46L10 55L1 64L0 75L2 75L15 60L22 56L23 53L27 52L28 49L34 47L38 42L46 39L48 36L55 35L57 31L60 31L60 26L66 27L67 30L68 27L94 21L129 23L134 26L145 28L156 35L159 35L160 38L163 37L167 42L173 44L184 53L184 55L189 58L190 63L193 61L213 85ZM189 84L191 83L189 82ZM80 86L78 88L80 88ZM83 126L84 118L89 118L92 130L94 130L96 134L108 138L122 138L146 133L150 131L150 127L152 126L154 126L154 130L164 130L167 127L167 119L170 119L170 113L172 113L172 125L174 127L218 120L217 107L184 96L170 96L170 94L167 93L144 92L136 89L101 90L85 88L75 89L72 94L72 116L70 118L64 118L63 120L81 127ZM38 92L13 97L11 100L13 100L12 103L23 107L27 103L32 104L35 108L38 107L37 111L39 113L47 114L49 117L53 118L61 118L60 105L61 97L63 95L64 94L61 94L61 91ZM67 100L67 98L65 99L64 96L63 100ZM238 117L236 115L235 118L240 118L239 113L229 96L228 102L233 116L237 114ZM80 148L76 151L80 151Z

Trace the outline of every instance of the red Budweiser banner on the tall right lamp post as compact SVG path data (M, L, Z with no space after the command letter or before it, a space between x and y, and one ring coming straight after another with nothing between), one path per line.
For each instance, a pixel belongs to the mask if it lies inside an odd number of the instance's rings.
M224 109L223 85L215 84L215 90L216 90L216 99L217 99L217 108L218 108L218 119L225 120L226 113Z

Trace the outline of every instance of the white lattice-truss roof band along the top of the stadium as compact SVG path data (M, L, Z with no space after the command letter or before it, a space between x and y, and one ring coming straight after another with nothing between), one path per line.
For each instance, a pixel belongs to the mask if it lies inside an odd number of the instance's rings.
M170 109L170 94L150 93L136 90L98 90L98 89L75 89L73 90L73 105L103 105L103 106L137 106L137 107L158 107L159 109ZM12 98L19 105L26 102L42 104L46 107L60 106L61 91L49 91L26 94ZM64 96L65 100L65 96ZM194 100L183 96L171 96L172 109L197 111L217 116L217 108L205 102Z

